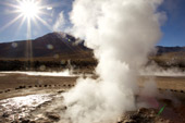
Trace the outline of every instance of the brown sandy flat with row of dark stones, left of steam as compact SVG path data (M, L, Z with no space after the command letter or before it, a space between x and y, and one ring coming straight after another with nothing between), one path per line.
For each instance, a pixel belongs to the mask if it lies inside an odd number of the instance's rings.
M0 74L0 99L18 95L67 89L75 85L77 77L29 76L25 74ZM26 91L25 91L26 89ZM24 91L23 91L24 90Z

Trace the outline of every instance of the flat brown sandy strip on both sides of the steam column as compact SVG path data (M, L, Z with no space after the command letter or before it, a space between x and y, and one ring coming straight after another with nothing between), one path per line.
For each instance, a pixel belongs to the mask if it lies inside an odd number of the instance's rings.
M3 74L0 73L0 93L10 89L32 87L71 87L75 85L77 76L34 76L26 74ZM138 85L143 87L145 83L155 81L159 89L185 91L185 76L140 76ZM21 87L22 88L22 87ZM9 91L9 90L8 90Z

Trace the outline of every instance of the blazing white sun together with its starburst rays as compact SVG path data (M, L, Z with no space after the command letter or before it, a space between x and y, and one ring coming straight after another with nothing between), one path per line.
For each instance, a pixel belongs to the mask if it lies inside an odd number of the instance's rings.
M16 16L2 26L0 32L16 22L20 22L17 32L21 27L26 27L27 39L32 38L32 28L37 27L40 29L40 24L46 26L49 30L53 30L52 26L48 23L48 20L46 20L46 17L51 16L52 4L46 4L44 0L8 0L4 4L10 8L10 14L16 14Z

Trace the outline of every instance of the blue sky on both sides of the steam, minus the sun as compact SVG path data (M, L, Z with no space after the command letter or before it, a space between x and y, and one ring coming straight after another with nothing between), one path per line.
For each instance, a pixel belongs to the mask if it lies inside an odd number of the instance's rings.
M53 30L63 32L70 26L69 12L73 0L40 0L40 19L30 20L30 38L40 37ZM15 13L18 7L16 0L0 0L0 42L27 39L27 20L22 23L23 17L15 20L20 13ZM185 0L164 0L159 8L166 14L166 21L161 29L162 39L158 45L185 46ZM81 14L81 13L79 13ZM65 20L65 21L64 21ZM59 23L60 22L60 23ZM64 25L61 25L63 22Z

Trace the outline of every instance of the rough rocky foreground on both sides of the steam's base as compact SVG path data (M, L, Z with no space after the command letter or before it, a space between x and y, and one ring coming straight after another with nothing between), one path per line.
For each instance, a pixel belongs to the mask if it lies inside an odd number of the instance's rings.
M69 123L72 122L65 115L67 107L63 104L62 94L55 93L28 95L14 97L0 101L0 123ZM26 101L27 100L27 101ZM26 101L26 102L24 102ZM138 108L136 111L127 111L118 118L116 123L184 123L184 106L172 106L172 100L159 99L166 104L164 111L159 114L159 108Z

